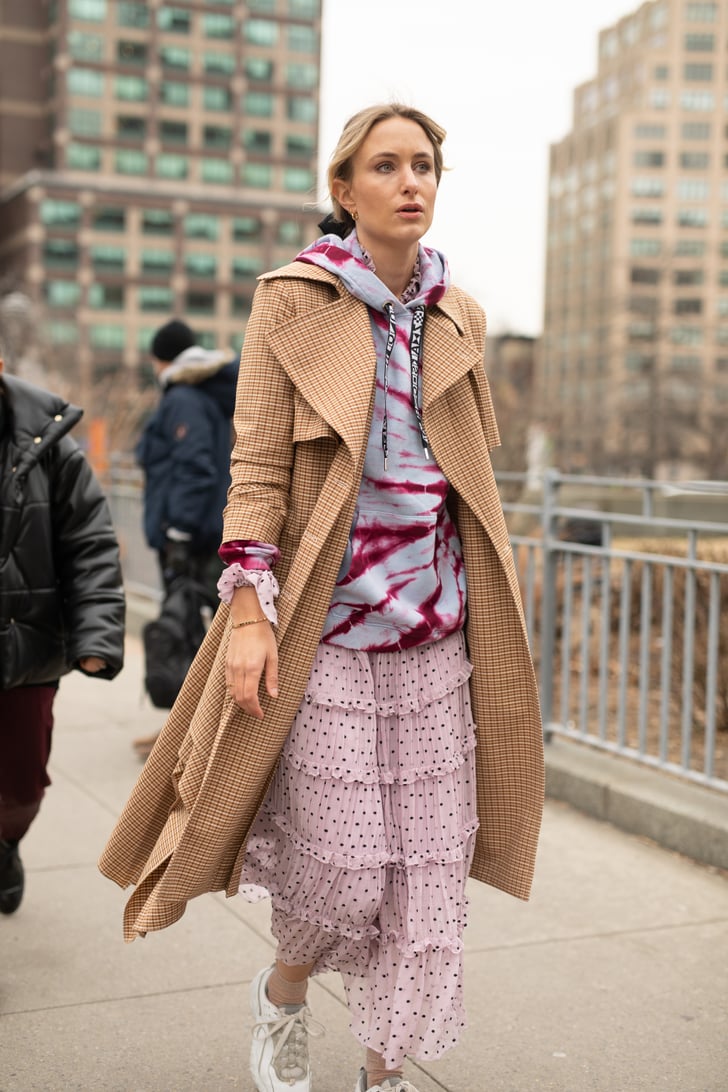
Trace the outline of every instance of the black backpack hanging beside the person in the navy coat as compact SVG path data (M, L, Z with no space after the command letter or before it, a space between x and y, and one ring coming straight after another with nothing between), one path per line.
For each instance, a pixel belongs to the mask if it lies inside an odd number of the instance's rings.
M159 617L142 629L144 687L157 709L171 709L205 636L205 591L187 575L169 585Z

